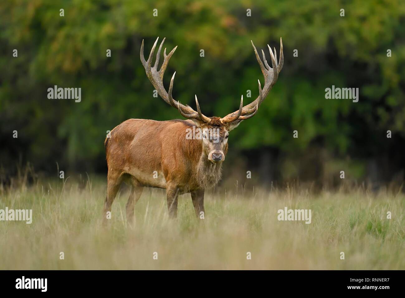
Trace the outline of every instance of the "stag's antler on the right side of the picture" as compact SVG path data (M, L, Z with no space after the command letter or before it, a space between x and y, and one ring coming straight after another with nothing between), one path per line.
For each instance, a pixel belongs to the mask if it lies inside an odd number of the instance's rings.
M258 80L258 82L259 82L258 98L256 98L255 101L253 101L252 103L249 103L248 105L243 107L243 96L242 96L241 105L239 107L239 110L226 115L224 118L221 118L221 122L223 124L227 124L227 123L233 122L235 120L245 120L245 119L249 119L249 118L253 117L256 114L258 108L260 107L260 104L262 103L262 101L266 98L267 94L269 94L271 88L276 83L278 74L281 71L281 69L283 68L284 56L283 56L283 42L281 41L281 37L280 37L279 63L277 63L276 49L274 48L274 55L273 55L273 51L271 51L270 46L267 45L269 47L270 56L271 56L271 65L273 66L273 68L271 68L269 66L269 64L267 63L266 57L264 56L264 51L262 50L263 61L264 61L264 65L263 65L263 62L262 62L262 60L260 60L259 54L257 53L256 47L253 44L253 41L251 41L251 42L252 42L252 46L254 49L254 53L256 54L256 59L259 62L260 69L262 70L262 73L264 76L263 89L262 89L262 86L260 85L260 81Z

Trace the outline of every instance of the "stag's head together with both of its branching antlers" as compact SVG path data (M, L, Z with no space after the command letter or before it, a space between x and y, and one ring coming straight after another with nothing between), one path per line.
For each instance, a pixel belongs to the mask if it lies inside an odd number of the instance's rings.
M160 58L160 51L162 50L162 46L164 43L164 40L162 40L162 43L160 43L158 53L156 54L156 61L155 64L153 64L153 67L151 66L152 64L152 59L153 59L153 54L155 52L156 44L158 43L159 37L156 39L155 43L153 44L152 50L149 54L148 60L145 60L145 57L143 56L143 41L141 45L141 62L143 66L145 67L146 75L153 84L153 86L156 88L158 91L158 94L162 97L162 99L171 105L172 107L176 108L179 110L180 114L183 115L185 118L191 119L195 126L196 129L200 129L201 131L201 138L202 138L202 143L203 143L203 152L207 155L209 161L213 163L217 162L222 162L225 160L225 154L228 150L228 137L229 137L229 132L237 127L241 121L249 119L253 117L256 112L258 111L260 104L262 101L266 98L267 94L269 94L271 88L273 88L273 85L276 83L278 74L283 68L283 62L284 62L284 56L283 56L283 43L280 38L280 56L279 56L279 62L277 62L277 53L276 49L274 48L274 54L273 51L271 50L271 47L269 47L269 52L271 56L271 66L267 63L266 56L264 55L264 51L262 50L262 56L263 56L263 61L259 57L259 54L256 50L256 47L254 46L252 42L252 46L254 49L254 53L256 55L256 59L259 62L260 69L262 71L262 74L264 76L264 86L262 88L260 84L260 80L258 80L259 83L259 95L258 97L252 102L249 103L248 105L243 106L243 96L241 97L241 103L239 105L239 109L237 111L234 111L231 114L226 115L223 118L220 117L207 117L201 113L200 105L198 104L198 99L197 96L196 98L196 107L197 111L192 109L189 105L183 105L179 101L175 101L172 96L172 90L173 90L173 81L176 75L176 72L173 74L173 77L170 81L170 86L169 86L169 91L166 92L166 89L163 86L163 75L164 71L166 70L166 67L168 65L168 62L175 52L177 46L168 54L166 55L166 48L164 49L164 61L163 64L158 71L158 65L159 65L159 58Z

